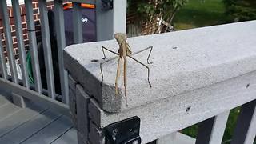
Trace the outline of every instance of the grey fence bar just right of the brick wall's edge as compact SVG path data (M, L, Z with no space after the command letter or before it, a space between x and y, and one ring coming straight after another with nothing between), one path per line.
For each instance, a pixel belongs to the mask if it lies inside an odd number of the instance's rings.
M53 70L53 62L52 62L52 55L51 55L50 30L49 30L46 0L39 0L39 10L40 10L41 31L42 31L42 47L43 47L45 66L46 66L47 90L50 98L55 98L54 70Z

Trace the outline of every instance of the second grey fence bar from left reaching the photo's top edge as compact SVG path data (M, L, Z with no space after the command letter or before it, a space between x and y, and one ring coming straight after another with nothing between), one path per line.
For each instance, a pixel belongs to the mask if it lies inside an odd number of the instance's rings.
M26 86L27 88L29 88L30 85L29 85L27 70L26 70L26 54L25 54L25 47L23 42L22 21L21 21L19 3L18 1L12 1L12 5L14 10L16 38L18 42L18 54L19 54L19 60L21 62L21 68L22 68L22 82L23 82L23 86Z

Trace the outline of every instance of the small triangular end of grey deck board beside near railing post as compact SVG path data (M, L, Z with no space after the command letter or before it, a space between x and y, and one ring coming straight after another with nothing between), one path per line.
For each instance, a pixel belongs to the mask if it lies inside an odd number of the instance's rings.
M52 144L70 144L70 143L78 143L78 135L77 130L71 128L61 137L59 137L56 141L52 142Z

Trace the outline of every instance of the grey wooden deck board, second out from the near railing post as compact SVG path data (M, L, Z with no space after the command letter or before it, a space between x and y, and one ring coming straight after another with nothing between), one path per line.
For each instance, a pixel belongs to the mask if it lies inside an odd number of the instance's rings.
M58 118L56 121L51 122L49 126L46 126L44 129L40 130L37 134L34 134L30 138L26 139L26 141L21 142L23 144L45 144L54 142L58 139L62 134L65 134L67 130L73 126L70 118L66 118L66 116L62 116Z

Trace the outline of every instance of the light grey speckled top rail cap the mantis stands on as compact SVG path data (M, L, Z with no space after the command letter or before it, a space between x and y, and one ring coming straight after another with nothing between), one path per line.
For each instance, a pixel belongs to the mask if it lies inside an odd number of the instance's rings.
M105 78L102 86L100 84L101 46L117 51L117 42L111 40L68 46L64 59L66 69L86 89L86 93L93 95L103 110L117 112L256 70L255 38L256 21L128 38L133 52L154 46L150 58L154 63L149 65L152 88L146 81L146 69L128 59L128 106L122 78L118 97L114 94L117 59L103 65ZM148 51L134 58L146 63L147 54ZM112 58L114 54L106 52L106 56ZM98 62L91 62L94 59Z

